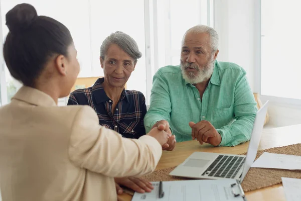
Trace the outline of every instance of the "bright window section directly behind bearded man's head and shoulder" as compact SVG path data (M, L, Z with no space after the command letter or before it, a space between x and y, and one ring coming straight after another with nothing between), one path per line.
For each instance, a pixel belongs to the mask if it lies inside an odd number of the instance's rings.
M150 99L152 78L167 65L180 65L181 42L185 32L198 24L213 27L213 0L150 1L150 38L152 65L147 75L147 103ZM150 84L149 84L150 82Z

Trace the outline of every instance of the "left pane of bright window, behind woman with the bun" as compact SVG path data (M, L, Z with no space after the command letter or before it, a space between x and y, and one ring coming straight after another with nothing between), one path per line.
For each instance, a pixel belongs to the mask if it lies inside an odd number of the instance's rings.
M7 36L9 30L6 23L5 15L17 4L28 3L33 5L38 15L51 16L52 18L60 21L68 27L76 48L78 49L78 60L81 66L79 76L87 76L91 74L91 59L90 59L90 39L89 39L89 4L88 1L76 2L72 0L53 0L53 1L39 1L39 0L2 0L1 1L1 18L2 18L2 30L3 38ZM66 8L70 7L66 13ZM59 6L58 6L59 5ZM79 15L81 14L81 15ZM3 55L1 55L3 57ZM7 98L10 102L12 96L22 86L22 84L12 78L8 69L6 68L6 85L7 85Z

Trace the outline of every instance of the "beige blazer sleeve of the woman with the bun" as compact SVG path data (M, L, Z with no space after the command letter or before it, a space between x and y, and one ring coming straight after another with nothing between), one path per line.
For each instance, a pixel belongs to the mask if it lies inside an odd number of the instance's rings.
M109 177L139 176L155 170L161 155L162 147L155 138L123 138L101 127L96 113L88 106L82 107L75 117L69 157L81 168Z

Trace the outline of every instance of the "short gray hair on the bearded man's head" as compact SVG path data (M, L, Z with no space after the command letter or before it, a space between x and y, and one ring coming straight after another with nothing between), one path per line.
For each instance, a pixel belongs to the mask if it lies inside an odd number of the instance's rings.
M218 49L218 34L215 31L215 29L213 29L212 27L209 27L206 25L197 25L197 26L190 28L189 30L187 30L187 32L183 36L182 45L184 43L184 38L185 38L186 34L190 33L190 32L192 32L194 34L200 34L200 33L209 34L212 51L216 51Z

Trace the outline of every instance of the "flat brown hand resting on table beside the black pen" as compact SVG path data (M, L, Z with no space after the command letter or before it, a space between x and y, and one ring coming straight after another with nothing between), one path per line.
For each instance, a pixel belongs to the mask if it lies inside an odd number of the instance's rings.
M120 185L126 186L136 192L150 192L154 189L152 183L138 177L121 177L114 178L117 194L122 194L123 190Z

